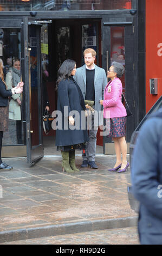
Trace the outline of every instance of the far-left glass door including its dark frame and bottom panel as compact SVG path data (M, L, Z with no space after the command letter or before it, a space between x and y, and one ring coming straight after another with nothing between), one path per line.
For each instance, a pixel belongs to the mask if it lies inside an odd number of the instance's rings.
M22 19L0 17L0 58L7 89L22 81ZM24 132L24 92L9 97L9 125L4 132L2 157L26 156Z

